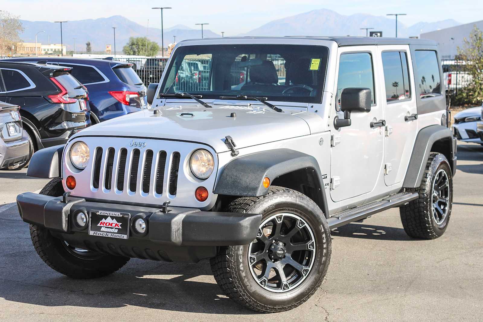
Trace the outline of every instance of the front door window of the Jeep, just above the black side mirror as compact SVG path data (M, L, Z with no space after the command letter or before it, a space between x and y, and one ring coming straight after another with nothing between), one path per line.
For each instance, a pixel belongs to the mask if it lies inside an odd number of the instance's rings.
M341 98L344 88L362 87L371 91L371 103L375 104L374 70L372 56L369 53L342 54L339 62L337 97Z

